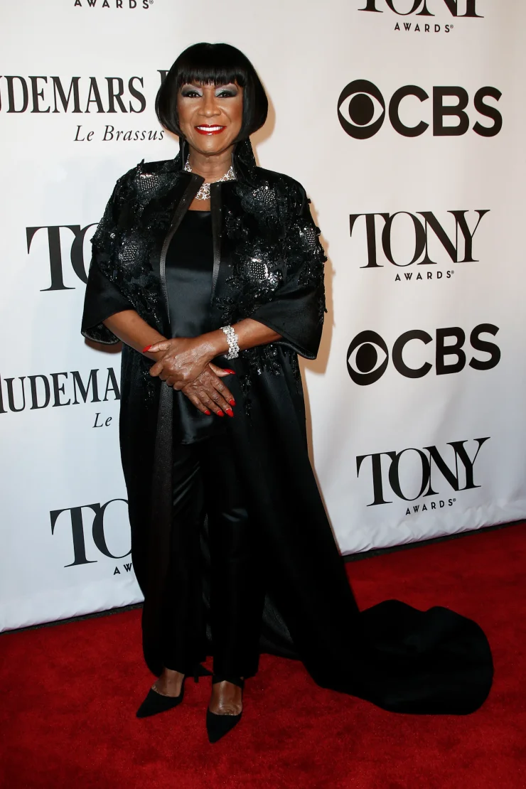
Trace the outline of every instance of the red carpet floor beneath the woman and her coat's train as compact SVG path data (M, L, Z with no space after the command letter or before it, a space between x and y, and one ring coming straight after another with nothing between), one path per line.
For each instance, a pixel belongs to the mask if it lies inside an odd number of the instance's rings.
M320 690L263 656L241 724L207 742L210 679L181 707L136 720L151 677L140 612L0 639L2 789L519 789L526 787L526 526L350 563L361 607L389 597L472 617L495 682L467 717L394 715Z

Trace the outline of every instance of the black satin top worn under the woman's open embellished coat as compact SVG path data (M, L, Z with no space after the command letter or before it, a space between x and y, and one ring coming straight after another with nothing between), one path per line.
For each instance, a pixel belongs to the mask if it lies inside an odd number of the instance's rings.
M210 211L186 211L166 252L166 290L172 337L197 337L210 331L214 250ZM207 417L185 394L173 390L173 437L195 443L225 429L215 413Z

